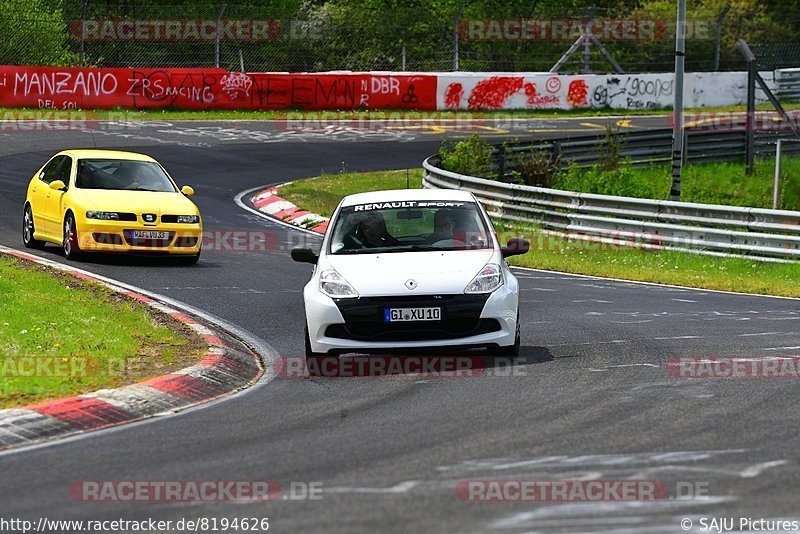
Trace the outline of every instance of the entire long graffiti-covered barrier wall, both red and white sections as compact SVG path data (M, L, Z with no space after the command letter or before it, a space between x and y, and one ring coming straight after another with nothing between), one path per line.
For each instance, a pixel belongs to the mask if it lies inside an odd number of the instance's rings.
M772 73L763 73L774 85ZM686 74L686 106L744 104L744 72ZM581 109L671 107L674 76L245 73L0 66L0 106L46 109ZM763 99L763 95L760 95Z

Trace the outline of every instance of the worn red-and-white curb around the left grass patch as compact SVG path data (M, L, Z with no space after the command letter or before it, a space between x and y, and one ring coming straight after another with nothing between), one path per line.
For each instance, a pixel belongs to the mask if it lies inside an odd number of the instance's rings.
M261 360L253 350L215 325L86 271L2 245L0 254L103 284L170 315L196 331L208 345L205 357L196 365L145 382L0 410L0 451L183 410L247 388L264 373Z

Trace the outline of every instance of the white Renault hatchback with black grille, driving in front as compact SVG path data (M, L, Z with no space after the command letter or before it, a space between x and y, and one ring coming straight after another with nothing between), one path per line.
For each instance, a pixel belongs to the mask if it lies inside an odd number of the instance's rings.
M505 258L525 239L497 241L471 193L394 190L342 199L303 297L306 356L485 347L519 352L519 285Z

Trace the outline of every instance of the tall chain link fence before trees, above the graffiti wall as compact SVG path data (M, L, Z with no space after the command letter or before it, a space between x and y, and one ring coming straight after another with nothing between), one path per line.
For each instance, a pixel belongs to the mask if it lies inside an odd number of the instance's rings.
M291 2L288 2L291 3ZM0 0L0 63L229 70L665 72L674 6L497 13L486 6L370 10L304 2L154 5L144 0ZM738 5L738 4L737 4ZM532 3L536 6L536 2ZM438 9L438 10L437 10ZM486 13L491 12L490 18ZM740 70L738 38L770 67L800 66L800 14L689 11L686 69Z

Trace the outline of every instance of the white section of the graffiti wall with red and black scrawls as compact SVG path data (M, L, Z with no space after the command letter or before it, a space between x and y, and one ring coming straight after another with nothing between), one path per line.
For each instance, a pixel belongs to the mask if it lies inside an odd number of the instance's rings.
M672 73L442 73L438 78L439 109L641 110L671 107L675 96ZM747 75L743 72L687 73L685 80L687 107L744 104L747 97Z

